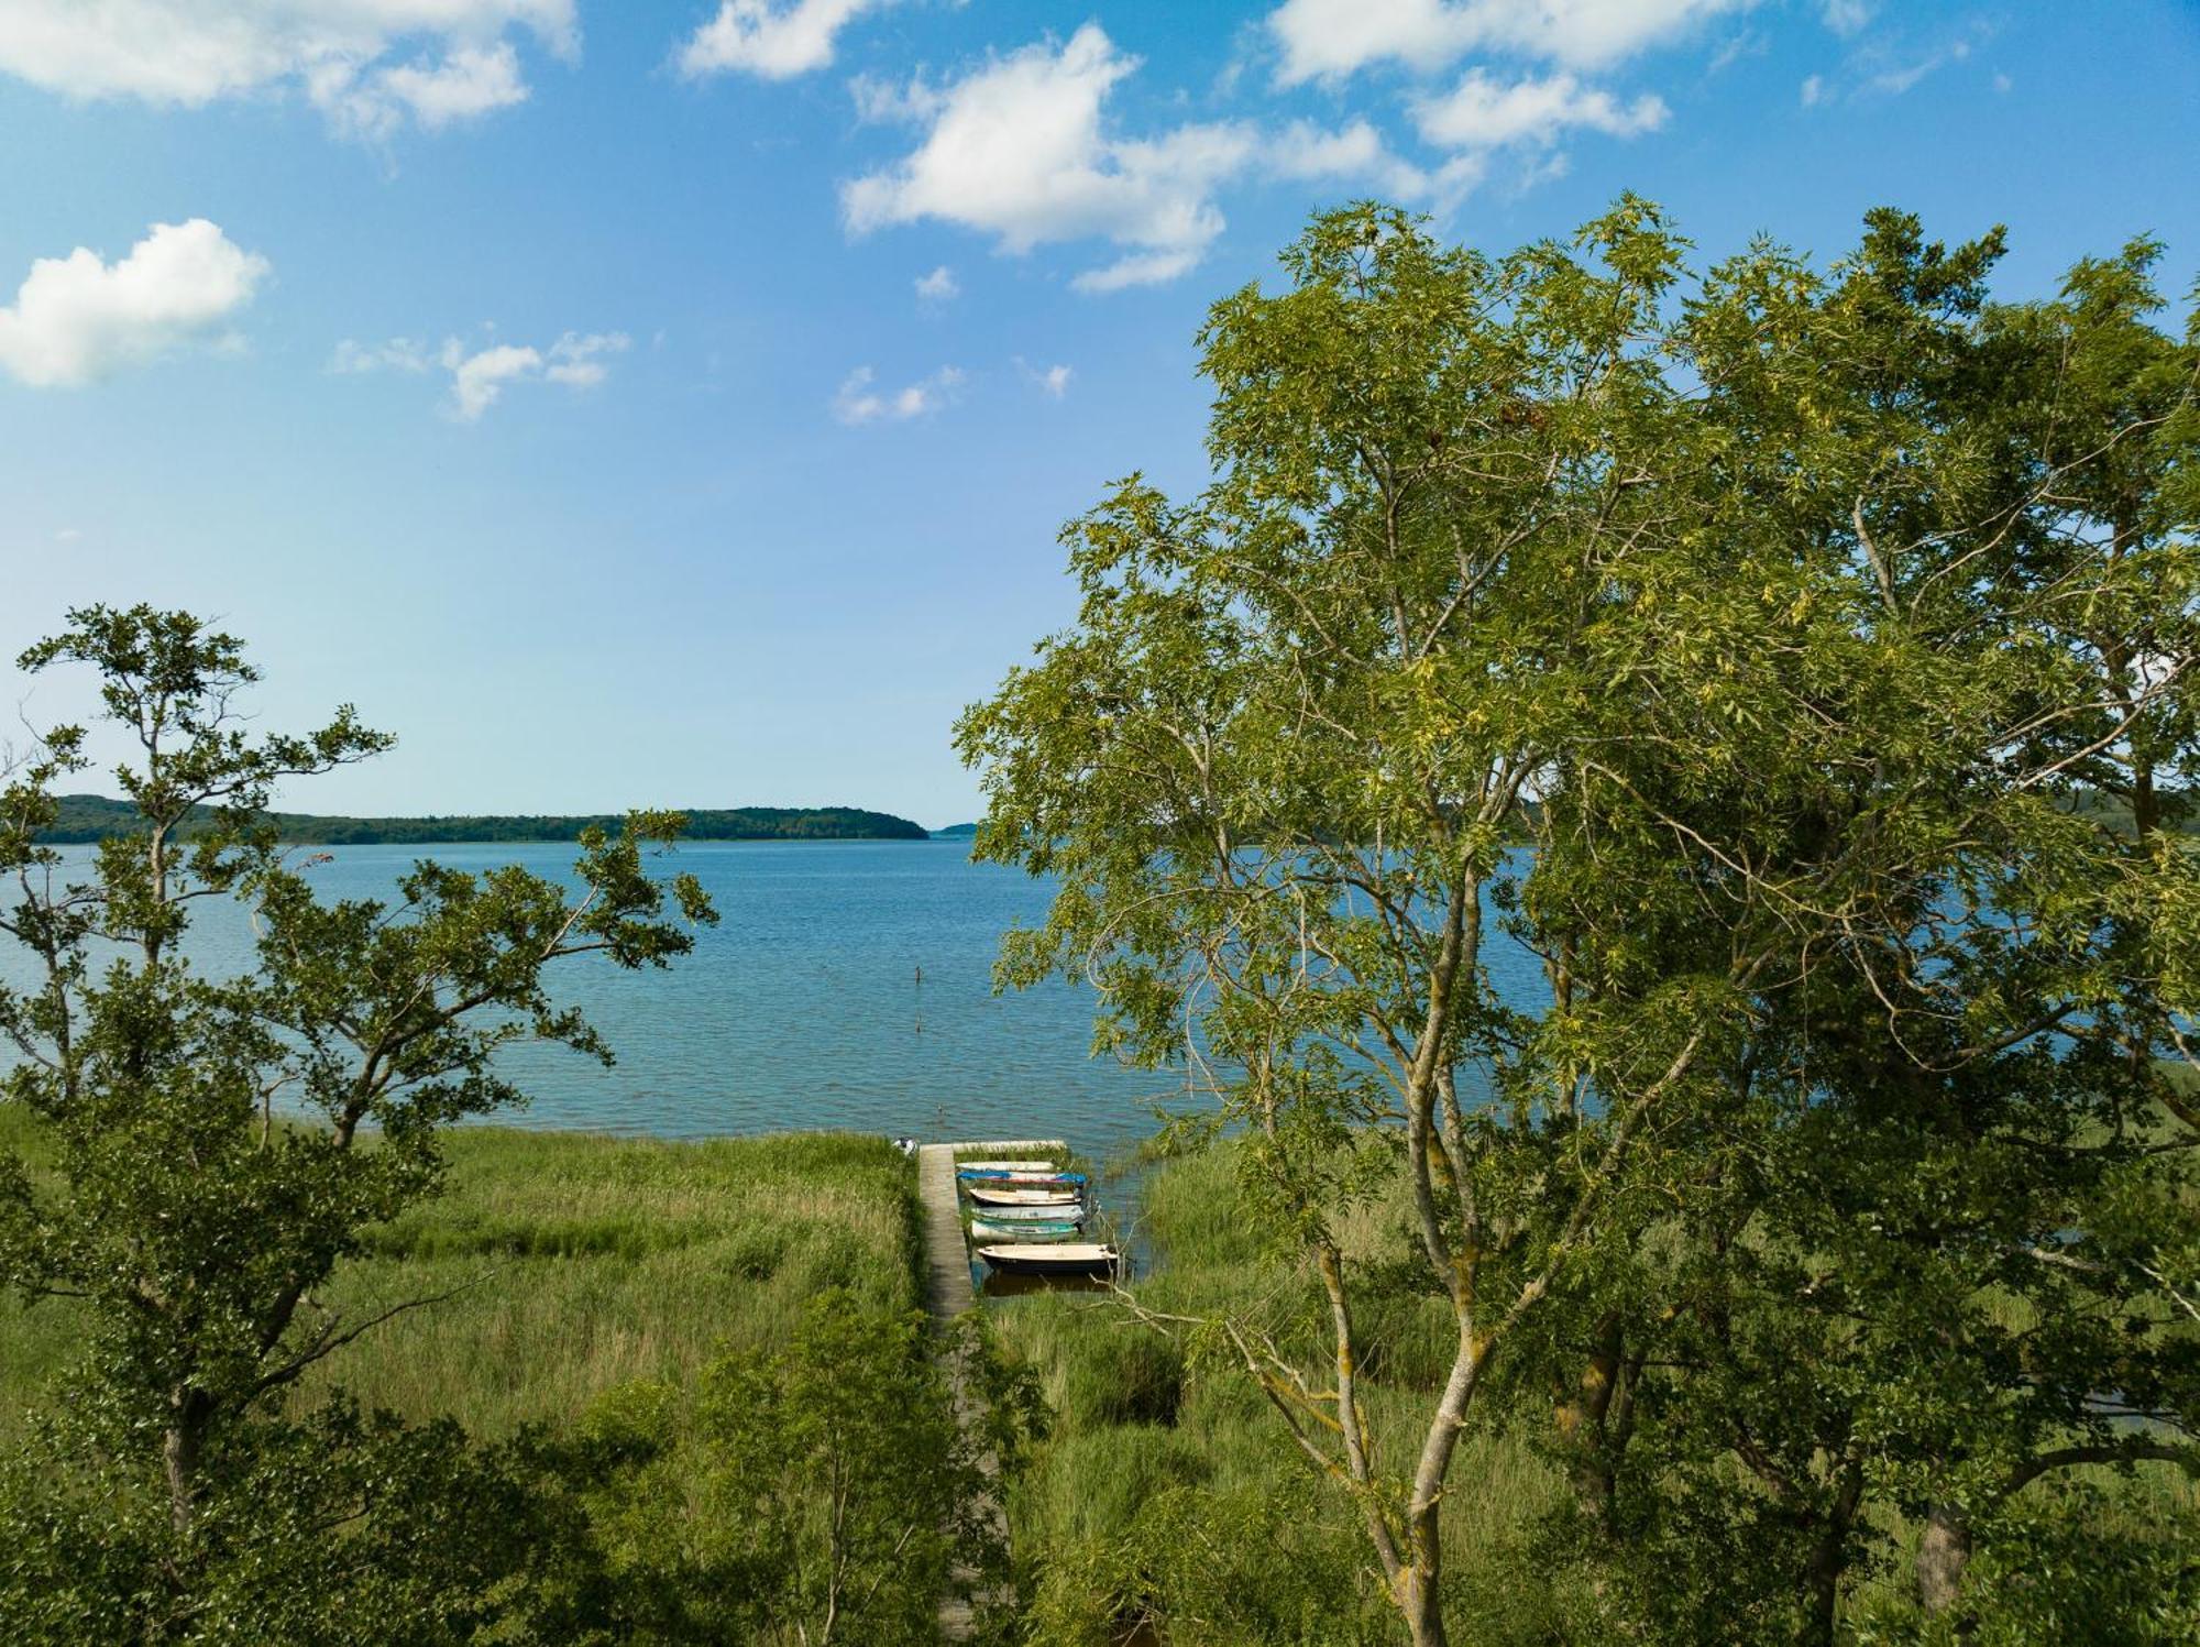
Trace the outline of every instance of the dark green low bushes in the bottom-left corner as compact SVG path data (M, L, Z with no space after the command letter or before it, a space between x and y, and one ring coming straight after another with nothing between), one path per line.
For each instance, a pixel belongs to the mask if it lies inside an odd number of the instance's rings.
M37 1436L0 1466L7 1640L471 1643L517 1623L530 1572L565 1548L532 1438L473 1447L449 1420L341 1398L235 1431L202 1480L178 1533L156 1471Z

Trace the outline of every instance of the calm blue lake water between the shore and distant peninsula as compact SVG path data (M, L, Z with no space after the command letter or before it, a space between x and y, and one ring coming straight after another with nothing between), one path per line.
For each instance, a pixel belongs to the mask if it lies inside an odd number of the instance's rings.
M614 1070L543 1046L502 1055L532 1103L502 1121L669 1138L854 1127L926 1138L1067 1138L1107 1158L1153 1132L1170 1072L1089 1057L1093 997L1071 984L994 995L1001 931L1036 925L1052 887L972 863L968 841L697 841L667 863L711 892L719 925L669 971L581 956L552 973L618 1055ZM70 857L77 857L70 850ZM334 848L323 898L387 898L418 857L565 876L570 846ZM209 971L249 960L240 909L207 901L187 945ZM1536 993L1522 951L1492 958ZM917 984L917 969L924 982ZM1520 975L1509 978L1511 971ZM0 945L0 978L24 982ZM1525 997L1525 995L1522 995Z

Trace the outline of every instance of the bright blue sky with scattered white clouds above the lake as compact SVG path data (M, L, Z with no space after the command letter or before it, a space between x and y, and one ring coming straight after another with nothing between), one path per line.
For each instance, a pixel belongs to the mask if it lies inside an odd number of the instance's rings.
M1199 482L1192 332L1311 209L2182 293L2193 86L2145 0L0 0L0 650L220 614L268 724L400 738L315 810L964 819L1056 528Z

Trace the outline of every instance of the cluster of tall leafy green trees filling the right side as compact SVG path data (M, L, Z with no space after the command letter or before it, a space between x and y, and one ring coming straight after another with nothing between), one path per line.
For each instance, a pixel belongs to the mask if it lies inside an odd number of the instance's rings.
M2145 249L2061 308L1989 306L1998 253L1874 214L1830 273L1690 277L1637 200L1503 260L1322 216L1208 321L1214 482L1071 524L1078 623L961 724L979 852L1063 881L1003 975L1089 975L1252 1134L1329 1352L1208 1330L1417 1643L1459 1436L1551 1381L1584 1524L1758 1574L1773 1638L1833 1632L1874 1502L2180 1449L2092 1396L2189 1411L2147 1127L2193 357ZM1377 1200L1456 1326L1404 1451L1355 1330L1399 1266L1340 1235Z

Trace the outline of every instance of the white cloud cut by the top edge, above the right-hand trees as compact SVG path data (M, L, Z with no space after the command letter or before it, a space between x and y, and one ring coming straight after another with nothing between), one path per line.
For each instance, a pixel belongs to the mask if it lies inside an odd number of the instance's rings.
M1285 0L1267 18L1276 79L1333 79L1379 62L1421 73L1470 51L1597 68L1753 0Z

